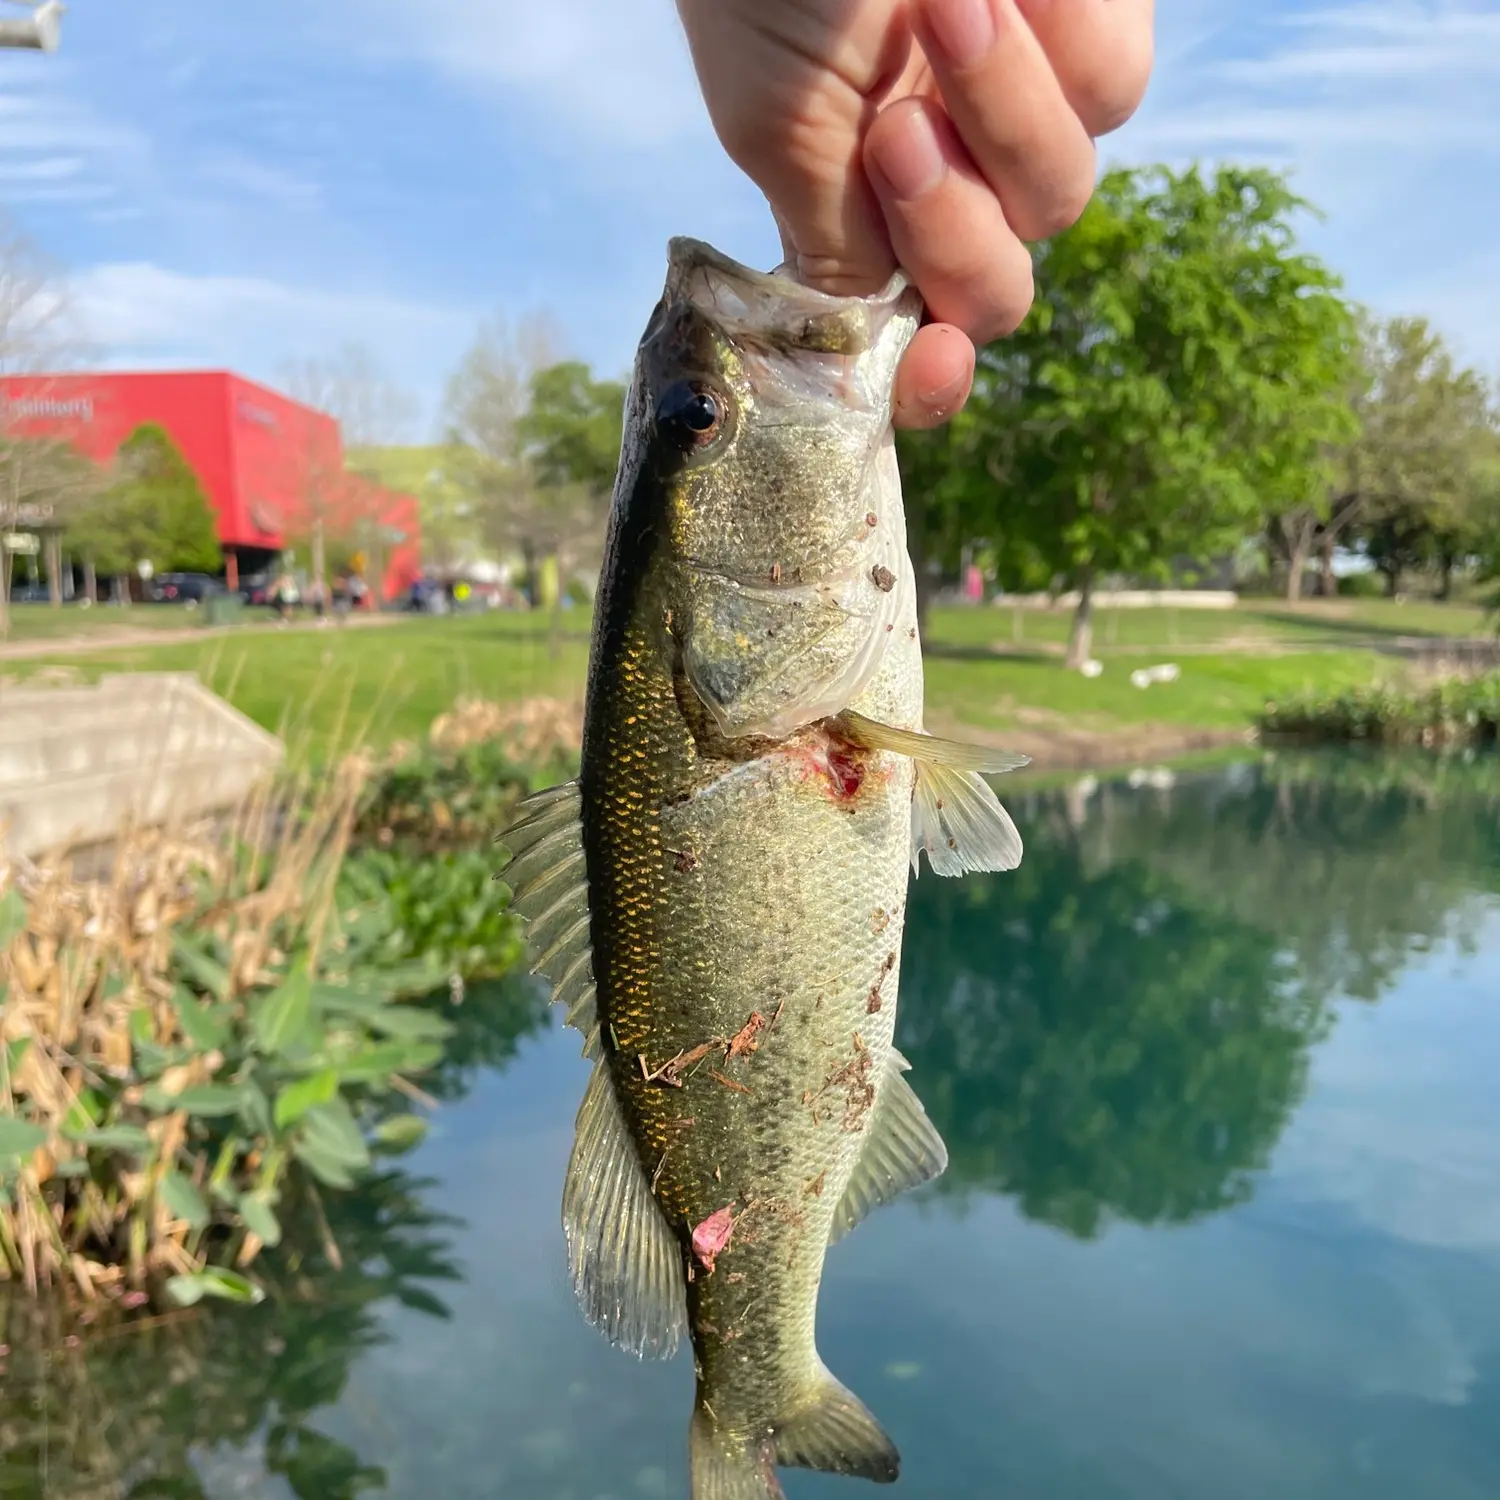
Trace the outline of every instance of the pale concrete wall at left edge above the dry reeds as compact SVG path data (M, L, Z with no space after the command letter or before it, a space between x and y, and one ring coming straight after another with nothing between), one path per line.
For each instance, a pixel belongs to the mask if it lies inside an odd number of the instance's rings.
M188 672L93 687L0 686L0 848L34 858L230 807L280 741Z

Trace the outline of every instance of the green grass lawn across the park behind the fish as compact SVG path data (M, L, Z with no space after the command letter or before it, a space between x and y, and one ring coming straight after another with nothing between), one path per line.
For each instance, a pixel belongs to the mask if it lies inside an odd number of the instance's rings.
M1398 672L1398 663L1368 650L1371 639L1462 634L1480 622L1478 610L1458 606L1359 600L1344 608L1347 614L1336 616L1317 606L1288 616L1258 603L1222 614L1120 610L1113 632L1107 620L1100 626L1104 674L1092 680L1059 663L1064 612L1029 614L1024 639L1012 644L1010 610L942 609L927 633L927 702L934 717L994 730L1248 728L1268 698ZM171 614L130 610L132 616ZM357 738L374 744L420 738L459 694L498 700L580 694L588 616L574 610L566 621L555 654L546 618L486 614L350 630L254 627L192 642L0 662L0 674L24 676L44 666L74 666L90 680L102 672L196 672L258 723L285 734L294 756L320 758ZM1352 622L1359 626L1354 633ZM1167 660L1182 668L1176 682L1144 690L1131 684L1132 668Z

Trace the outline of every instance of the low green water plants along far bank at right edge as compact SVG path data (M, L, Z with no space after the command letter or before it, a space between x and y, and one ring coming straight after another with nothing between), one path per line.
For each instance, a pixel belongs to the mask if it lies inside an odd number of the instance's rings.
M1262 735L1380 746L1485 746L1500 738L1500 672L1426 686L1382 682L1266 704Z

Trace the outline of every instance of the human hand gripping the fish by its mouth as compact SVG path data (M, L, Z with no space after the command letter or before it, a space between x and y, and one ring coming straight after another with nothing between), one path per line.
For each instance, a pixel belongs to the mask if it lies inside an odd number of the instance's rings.
M896 420L946 422L975 342L1032 303L1026 240L1094 192L1094 138L1146 92L1154 0L676 0L718 140L788 261L834 292L900 264L933 322Z

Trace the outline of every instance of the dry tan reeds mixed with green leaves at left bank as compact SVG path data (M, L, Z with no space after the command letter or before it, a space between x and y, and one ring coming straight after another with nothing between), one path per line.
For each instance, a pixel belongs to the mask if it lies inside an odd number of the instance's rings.
M285 1152L210 1160L192 1106L225 1066L216 1034L285 982L292 951L324 968L368 770L350 756L315 790L261 788L230 837L128 828L104 880L66 858L0 864L0 1278L93 1298L192 1276L201 1194L274 1200ZM240 1264L262 1242L250 1222Z

